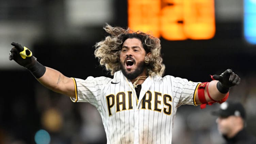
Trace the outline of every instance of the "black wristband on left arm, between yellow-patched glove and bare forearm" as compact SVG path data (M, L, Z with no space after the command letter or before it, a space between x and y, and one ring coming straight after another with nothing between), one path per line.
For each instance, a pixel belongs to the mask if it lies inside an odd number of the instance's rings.
M38 79L45 74L46 67L38 61L36 61L36 63L33 66L28 67L28 70L30 70L30 72L35 76L35 78Z

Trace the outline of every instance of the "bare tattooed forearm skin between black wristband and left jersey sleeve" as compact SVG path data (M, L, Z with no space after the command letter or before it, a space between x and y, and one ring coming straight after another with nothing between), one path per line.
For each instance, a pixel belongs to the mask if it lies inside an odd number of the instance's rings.
M37 79L48 89L67 96L75 97L73 79L64 76L60 71L46 67L44 75Z

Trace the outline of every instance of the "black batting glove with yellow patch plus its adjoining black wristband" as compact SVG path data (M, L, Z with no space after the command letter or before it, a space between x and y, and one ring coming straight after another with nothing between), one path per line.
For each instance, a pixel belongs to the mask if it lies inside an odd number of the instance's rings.
M26 67L36 78L40 78L44 75L46 70L45 66L36 60L28 48L22 47L15 42L12 42L11 45L14 47L10 50L9 60L14 60L19 65Z

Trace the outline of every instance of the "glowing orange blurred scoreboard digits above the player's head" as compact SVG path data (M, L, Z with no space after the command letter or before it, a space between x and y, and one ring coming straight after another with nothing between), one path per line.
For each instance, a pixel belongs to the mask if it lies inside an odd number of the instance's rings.
M214 0L128 0L128 27L169 41L211 39Z

